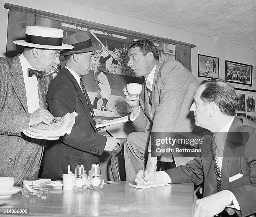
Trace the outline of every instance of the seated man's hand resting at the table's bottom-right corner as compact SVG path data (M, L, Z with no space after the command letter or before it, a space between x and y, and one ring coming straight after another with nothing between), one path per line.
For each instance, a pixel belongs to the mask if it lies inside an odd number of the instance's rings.
M198 199L195 204L193 217L212 217L222 212L230 203L228 192L225 191Z

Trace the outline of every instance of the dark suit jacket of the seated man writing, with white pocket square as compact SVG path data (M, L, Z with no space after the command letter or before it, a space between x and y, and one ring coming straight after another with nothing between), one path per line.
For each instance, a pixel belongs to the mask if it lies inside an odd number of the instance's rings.
M245 134L232 134L245 133ZM243 136L242 136L243 135ZM228 189L236 196L242 216L256 213L256 123L245 117L235 117L227 136L221 168L221 190ZM204 181L204 197L217 192L217 178L211 154L211 138L199 147L202 153L187 165L166 170L172 183ZM233 182L230 177L243 174Z

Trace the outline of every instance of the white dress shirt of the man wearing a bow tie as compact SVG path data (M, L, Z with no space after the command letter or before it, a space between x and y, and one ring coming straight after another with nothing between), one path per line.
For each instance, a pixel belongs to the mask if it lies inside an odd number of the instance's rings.
M39 106L39 97L38 97L38 87L37 87L37 78L35 75L28 77L28 68L33 68L28 61L26 60L23 53L19 56L20 64L23 72L24 84L26 89L26 98L28 105L28 112L33 113L38 109ZM30 124L29 124L30 125Z

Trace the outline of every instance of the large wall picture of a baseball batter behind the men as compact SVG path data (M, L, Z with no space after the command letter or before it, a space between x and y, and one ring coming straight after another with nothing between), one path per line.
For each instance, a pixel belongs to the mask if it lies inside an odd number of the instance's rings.
M51 22L50 22L51 21ZM83 25L80 23L69 23L66 21L49 20L47 18L38 17L36 25L47 26L51 23L53 28L61 28L63 37L84 31L90 34L93 45L102 47L101 50L96 50L96 64L91 67L88 75L82 76L85 88L89 95L91 103L94 105L95 116L101 117L123 117L131 112L131 107L125 102L123 88L127 83L143 83L143 77L135 77L133 71L127 66L128 45L135 40L147 38L154 43L159 51L159 62L164 63L169 60L175 60L175 45L157 40L156 37L133 35L133 33L125 33L117 31L115 28L101 28L92 25ZM95 36L98 38L97 40ZM101 43L100 43L101 42ZM97 67L97 61L100 56L108 56L108 52L102 46L110 50L114 58L106 61L106 70L100 72ZM61 68L65 65L63 56L60 56ZM107 99L106 106L103 106L103 98Z

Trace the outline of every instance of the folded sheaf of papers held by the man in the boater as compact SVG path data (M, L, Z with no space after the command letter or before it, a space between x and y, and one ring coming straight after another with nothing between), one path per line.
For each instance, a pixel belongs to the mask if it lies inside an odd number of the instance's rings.
M64 134L71 133L76 116L77 113L75 111L73 111L71 114L68 112L61 118L59 123L53 122L51 125L39 123L35 126L23 129L23 133L35 139L56 140Z

